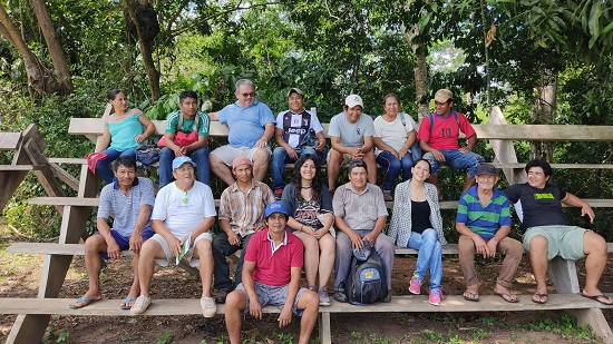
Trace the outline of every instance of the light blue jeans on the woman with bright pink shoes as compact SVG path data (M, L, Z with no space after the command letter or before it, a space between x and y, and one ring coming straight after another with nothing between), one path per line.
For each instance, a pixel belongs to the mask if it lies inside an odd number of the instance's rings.
M442 246L438 240L436 229L428 228L421 234L411 232L407 247L419 250L415 275L419 279L424 279L426 268L429 265L430 291L440 289L440 279L442 278Z

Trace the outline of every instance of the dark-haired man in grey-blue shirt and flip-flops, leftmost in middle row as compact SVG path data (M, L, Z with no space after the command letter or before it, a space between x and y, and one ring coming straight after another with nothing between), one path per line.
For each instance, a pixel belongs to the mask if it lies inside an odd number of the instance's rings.
M148 178L136 177L136 161L132 157L119 157L111 164L117 180L100 191L100 205L96 226L98 233L85 242L85 268L89 289L70 308L77 309L103 298L100 292L100 268L103 258L118 259L121 250L130 249L134 279L124 299L121 309L129 309L140 293L138 288L138 255L143 242L154 233L150 228L152 208L155 203L154 187ZM113 215L113 228L107 219Z

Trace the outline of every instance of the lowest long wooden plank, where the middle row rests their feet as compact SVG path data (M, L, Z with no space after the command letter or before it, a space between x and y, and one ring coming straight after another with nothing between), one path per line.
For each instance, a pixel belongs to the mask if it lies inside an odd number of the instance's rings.
M331 301L320 313L435 313L435 312L517 312L551 309L607 308L606 305L582 297L578 294L549 294L546 304L531 301L532 295L519 295L519 303L509 304L496 295L481 295L479 302L469 302L461 295L448 295L441 305L435 307L428 303L428 295L392 296L390 303L356 306ZM119 308L121 299L101 299L80 309L71 309L75 298L0 298L0 314L60 314L60 315L103 315L130 316L129 311ZM267 306L264 313L280 313ZM224 314L225 306L217 305L217 314ZM145 315L200 315L202 308L197 298L153 298Z

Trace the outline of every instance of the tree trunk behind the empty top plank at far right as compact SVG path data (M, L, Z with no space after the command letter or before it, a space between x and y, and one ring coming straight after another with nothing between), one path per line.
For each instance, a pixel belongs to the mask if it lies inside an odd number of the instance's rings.
M537 89L539 97L531 111L531 124L551 125L554 122L554 112L557 107L557 73L553 70L541 72L541 87ZM531 159L544 159L553 163L552 144L548 141L533 141L531 144Z

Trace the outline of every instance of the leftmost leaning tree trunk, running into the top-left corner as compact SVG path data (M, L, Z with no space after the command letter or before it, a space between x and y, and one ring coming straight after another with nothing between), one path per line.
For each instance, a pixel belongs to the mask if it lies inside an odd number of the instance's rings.
M61 87L53 75L40 63L38 58L26 46L19 30L14 27L4 6L0 3L0 35L11 43L19 52L26 67L28 82L39 95L60 92Z

